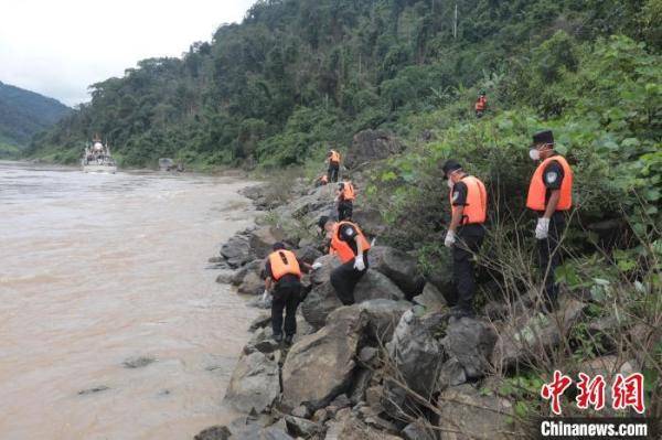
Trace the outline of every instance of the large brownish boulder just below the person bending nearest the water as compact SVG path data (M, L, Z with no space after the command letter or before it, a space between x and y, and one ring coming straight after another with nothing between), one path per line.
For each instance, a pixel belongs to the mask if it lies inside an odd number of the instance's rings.
M365 325L361 310L343 307L327 326L292 345L282 366L282 405L314 411L348 391Z

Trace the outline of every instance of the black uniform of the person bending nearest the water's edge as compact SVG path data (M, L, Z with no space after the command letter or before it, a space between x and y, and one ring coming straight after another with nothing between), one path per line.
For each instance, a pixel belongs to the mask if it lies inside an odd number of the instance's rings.
M300 265L301 262L299 262ZM274 279L271 264L267 258L265 273ZM293 336L297 333L297 307L299 305L301 293L301 281L296 275L284 275L274 286L271 301L271 329L274 335L282 334ZM282 310L285 309L285 329L282 326Z

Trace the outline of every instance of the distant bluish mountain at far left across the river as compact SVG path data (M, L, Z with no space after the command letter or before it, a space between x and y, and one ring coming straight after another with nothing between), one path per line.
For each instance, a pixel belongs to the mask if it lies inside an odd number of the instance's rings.
M0 82L0 146L26 146L70 111L56 99Z

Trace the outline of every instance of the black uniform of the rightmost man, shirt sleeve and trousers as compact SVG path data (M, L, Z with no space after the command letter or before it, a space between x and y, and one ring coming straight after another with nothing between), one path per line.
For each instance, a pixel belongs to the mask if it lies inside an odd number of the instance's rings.
M545 205L549 200L549 193L553 190L560 190L563 179L563 167L558 162L553 161L545 167L545 170L543 171L543 181L547 187ZM544 214L544 212L538 212L538 217L542 217ZM555 304L558 299L558 285L554 279L554 270L560 266L560 249L558 243L565 227L566 222L563 212L556 211L552 215L552 218L549 218L549 232L547 238L537 240L541 271L545 282L545 294L551 304Z

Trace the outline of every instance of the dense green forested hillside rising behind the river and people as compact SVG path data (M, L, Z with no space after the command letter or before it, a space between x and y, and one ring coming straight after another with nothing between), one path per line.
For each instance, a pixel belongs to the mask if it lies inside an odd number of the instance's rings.
M575 68L572 46L622 33L650 51L662 40L659 0L467 0L457 21L455 11L442 0L258 1L182 58L145 60L94 84L92 101L30 153L73 161L100 132L124 165L301 163L365 128L414 136L408 117L471 99L477 85L499 94L494 108L558 112L547 85ZM543 82L501 93L532 58L548 69ZM471 101L462 105L453 118L469 115Z

